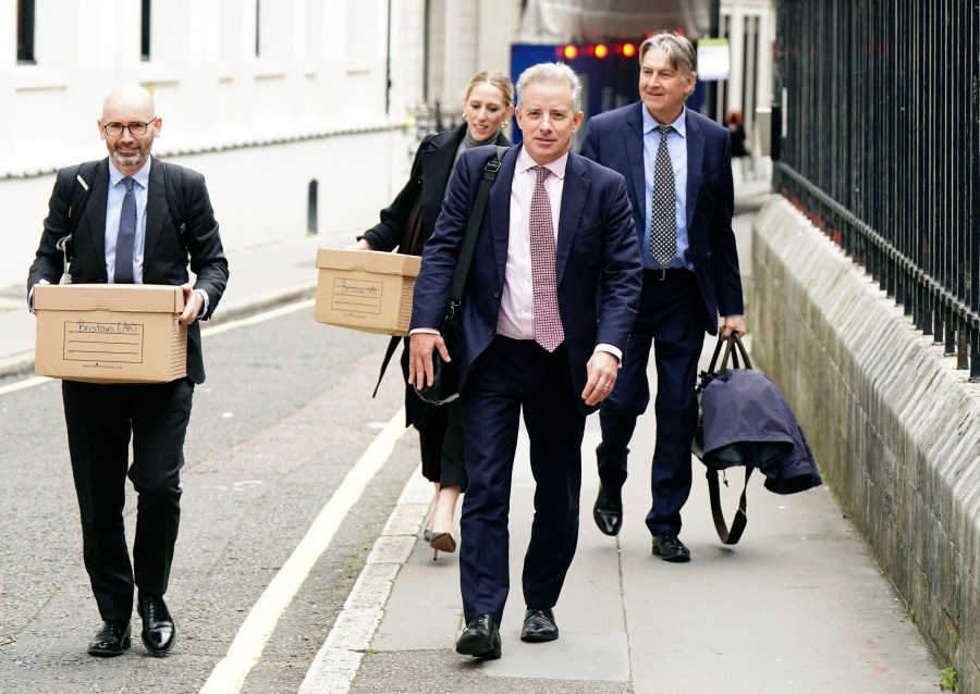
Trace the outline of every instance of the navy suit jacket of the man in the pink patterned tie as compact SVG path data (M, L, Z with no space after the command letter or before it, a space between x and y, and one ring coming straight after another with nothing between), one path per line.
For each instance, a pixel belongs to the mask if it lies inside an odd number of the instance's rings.
M460 387L474 360L497 333L511 224L511 185L519 148L503 159L490 190L473 265L463 295L464 345ZM469 211L494 147L463 154L445 194L442 214L422 252L415 283L412 329L440 327ZM572 382L587 381L586 363L600 343L625 350L639 306L641 264L623 176L568 154L556 240L559 311L565 330ZM600 294L601 290L601 294ZM597 300L601 296L601 300ZM595 408L586 407L585 412Z

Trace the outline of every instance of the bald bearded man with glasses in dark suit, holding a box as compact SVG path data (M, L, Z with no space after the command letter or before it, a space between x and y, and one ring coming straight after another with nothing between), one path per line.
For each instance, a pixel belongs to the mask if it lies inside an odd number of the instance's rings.
M185 377L162 384L62 383L85 568L102 618L88 653L118 656L130 647L135 586L143 643L163 655L176 639L163 594L180 524L184 436L194 386L205 379L198 321L210 318L221 299L228 261L204 177L150 154L163 120L149 92L138 86L112 91L98 125L109 157L58 172L27 278L28 301L36 285L58 282L63 256L57 244L72 226L74 283L183 287ZM123 529L126 476L138 495L132 563Z

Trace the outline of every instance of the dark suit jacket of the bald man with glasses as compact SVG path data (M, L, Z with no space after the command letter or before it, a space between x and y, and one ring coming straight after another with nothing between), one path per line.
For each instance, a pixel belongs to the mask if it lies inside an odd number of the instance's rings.
M168 169L177 168L168 163ZM189 169L181 169L182 190L172 190L183 200L186 246L191 255L191 270L196 278L195 289L208 295L207 320L215 312L228 282L228 260L221 247L218 222L205 186L204 176ZM63 269L63 256L54 245L69 233L69 206L76 185L75 168L62 169L54 178L54 189L48 203L45 231L34 263L27 275L27 290L40 280L57 284ZM173 174L171 174L173 175ZM109 159L98 163L89 184L88 201L72 239L72 282L105 284L106 274L106 205L109 195ZM179 286L189 278L187 258L177 228L170 215L163 184L163 166L154 158L150 168L146 201L146 243L143 257L143 282ZM187 375L195 383L204 383L204 359L200 350L200 325L195 321L187 329Z

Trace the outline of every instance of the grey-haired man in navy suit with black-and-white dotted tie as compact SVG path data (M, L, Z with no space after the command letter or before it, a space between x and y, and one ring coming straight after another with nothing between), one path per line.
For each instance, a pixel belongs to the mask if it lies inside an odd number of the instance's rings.
M731 136L684 104L697 78L690 41L664 32L644 41L639 53L640 101L590 119L581 146L584 157L626 177L644 263L642 298L618 384L599 412L601 486L592 516L607 535L620 532L627 446L650 401L646 372L652 343L657 445L647 526L654 555L688 561L690 552L678 535L681 508L690 493L705 331L720 330L726 339L733 332L745 334L732 232Z

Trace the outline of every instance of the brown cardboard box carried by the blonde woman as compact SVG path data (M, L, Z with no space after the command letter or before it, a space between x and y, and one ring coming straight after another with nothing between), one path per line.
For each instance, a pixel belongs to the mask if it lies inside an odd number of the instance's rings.
M420 264L418 256L320 248L314 318L368 333L407 335Z

